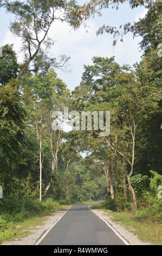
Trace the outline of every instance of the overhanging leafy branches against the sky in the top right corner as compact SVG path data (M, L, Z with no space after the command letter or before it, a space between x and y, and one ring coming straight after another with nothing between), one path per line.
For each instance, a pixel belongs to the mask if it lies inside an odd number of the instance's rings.
M102 16L101 10L109 9L109 8L116 8L116 10L121 8L121 4L124 4L126 1L124 0L89 0L83 6L74 8L74 14L77 14L80 19L87 20L90 16L94 17L98 15L99 17ZM109 33L113 35L114 41L113 45L116 45L116 41L120 39L123 42L124 36L128 32L132 32L133 35L137 35L140 33L141 30L149 29L152 27L152 23L157 16L157 13L161 11L161 2L160 1L145 1L145 0L131 0L128 1L128 5L131 9L137 7L145 7L147 9L147 14L143 19L140 19L140 22L134 21L133 24L127 22L125 25L120 25L119 27L110 26L108 24L103 24L98 31L96 32L97 35L103 33ZM118 17L117 17L118 19ZM156 36L157 34L155 34Z

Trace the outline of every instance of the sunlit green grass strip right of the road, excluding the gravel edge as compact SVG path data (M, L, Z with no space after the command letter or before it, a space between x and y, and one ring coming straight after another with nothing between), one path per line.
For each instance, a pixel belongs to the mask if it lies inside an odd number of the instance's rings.
M157 217L139 218L128 211L113 212L104 209L102 204L93 204L90 207L105 211L108 216L113 217L113 221L120 222L120 225L137 235L141 241L162 245L162 223Z

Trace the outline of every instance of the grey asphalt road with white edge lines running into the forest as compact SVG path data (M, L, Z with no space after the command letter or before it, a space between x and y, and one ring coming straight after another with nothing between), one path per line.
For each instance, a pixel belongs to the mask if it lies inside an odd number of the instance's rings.
M88 205L74 205L39 245L125 245Z

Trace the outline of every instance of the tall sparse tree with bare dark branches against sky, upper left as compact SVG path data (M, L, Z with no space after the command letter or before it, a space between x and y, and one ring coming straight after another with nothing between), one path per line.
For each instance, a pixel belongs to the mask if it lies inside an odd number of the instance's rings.
M16 16L11 22L11 32L22 39L22 51L25 52L25 61L21 71L17 75L17 80L21 78L25 71L30 71L29 65L35 61L34 71L38 70L38 54L46 56L43 46L49 48L53 41L48 37L49 29L54 21L67 22L70 26L77 28L80 25L76 17L72 18L72 10L76 7L75 1L55 1L55 0L27 0L23 1L3 1L3 7ZM37 57L37 59L35 59ZM43 59L41 57L41 59ZM61 57L62 63L66 62L65 56ZM37 63L37 65L36 65ZM50 66L59 66L56 59L48 59ZM42 62L40 64L42 66ZM33 70L33 69L31 69ZM16 89L18 88L16 84Z

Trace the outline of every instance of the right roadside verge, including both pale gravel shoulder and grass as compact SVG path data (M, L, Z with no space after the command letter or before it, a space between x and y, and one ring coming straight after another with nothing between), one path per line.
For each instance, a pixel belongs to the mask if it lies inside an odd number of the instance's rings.
M139 221L131 212L101 209L100 204L91 205L90 208L103 220L111 223L131 245L162 245L162 224L158 220L146 218Z

